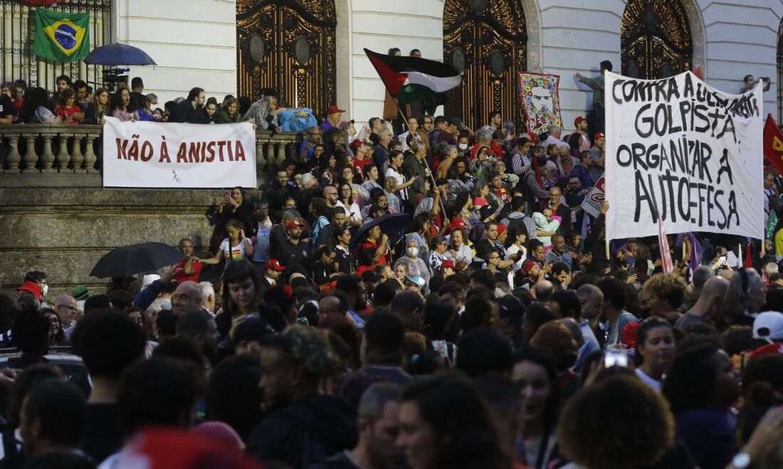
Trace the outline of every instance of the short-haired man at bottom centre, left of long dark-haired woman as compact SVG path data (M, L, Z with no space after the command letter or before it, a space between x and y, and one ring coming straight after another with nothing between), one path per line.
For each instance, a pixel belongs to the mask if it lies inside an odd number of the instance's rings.
M395 469L403 467L396 443L399 432L399 399L402 388L377 383L367 388L359 402L359 443L350 451L330 457L310 469Z

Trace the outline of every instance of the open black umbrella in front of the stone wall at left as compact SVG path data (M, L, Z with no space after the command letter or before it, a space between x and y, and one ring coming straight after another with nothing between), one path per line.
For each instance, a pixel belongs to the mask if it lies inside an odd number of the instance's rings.
M166 265L176 264L184 254L163 243L142 243L117 247L100 258L90 272L91 276L124 277L136 273L153 272Z

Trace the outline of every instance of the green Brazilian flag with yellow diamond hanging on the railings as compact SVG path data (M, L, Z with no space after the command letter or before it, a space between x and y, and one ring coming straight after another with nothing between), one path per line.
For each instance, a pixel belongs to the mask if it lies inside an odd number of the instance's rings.
M33 52L58 62L76 62L90 52L89 13L35 9Z

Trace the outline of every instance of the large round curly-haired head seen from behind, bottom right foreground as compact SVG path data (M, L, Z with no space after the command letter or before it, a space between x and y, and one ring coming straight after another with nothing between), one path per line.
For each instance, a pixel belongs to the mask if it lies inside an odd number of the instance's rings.
M579 391L557 425L561 453L575 469L653 467L674 437L666 400L633 376L608 377ZM565 469L565 468L564 468Z

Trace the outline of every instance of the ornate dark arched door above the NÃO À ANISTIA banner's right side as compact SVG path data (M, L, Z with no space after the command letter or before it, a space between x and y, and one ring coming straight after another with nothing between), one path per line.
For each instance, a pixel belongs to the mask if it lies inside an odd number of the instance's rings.
M236 0L236 82L239 96L263 88L290 106L316 114L335 103L334 0Z

